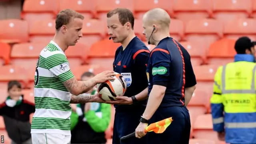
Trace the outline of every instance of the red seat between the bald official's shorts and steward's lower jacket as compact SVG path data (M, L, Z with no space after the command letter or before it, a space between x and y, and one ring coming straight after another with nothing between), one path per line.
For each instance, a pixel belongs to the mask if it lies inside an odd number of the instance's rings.
M217 133L214 132L212 129L213 125L211 114L197 116L193 130L194 138L214 140L216 144L219 144Z

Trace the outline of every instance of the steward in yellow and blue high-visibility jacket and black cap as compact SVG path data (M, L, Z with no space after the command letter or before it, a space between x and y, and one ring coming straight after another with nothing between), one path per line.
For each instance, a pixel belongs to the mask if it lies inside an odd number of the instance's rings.
M230 144L256 144L255 42L236 41L234 62L220 66L211 98L213 130Z

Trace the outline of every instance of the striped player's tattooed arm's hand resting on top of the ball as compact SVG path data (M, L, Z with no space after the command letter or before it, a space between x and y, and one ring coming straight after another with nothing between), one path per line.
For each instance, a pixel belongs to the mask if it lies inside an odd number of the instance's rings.
M99 84L106 82L107 80L115 80L115 78L112 77L115 75L114 71L107 70L94 76L94 80Z

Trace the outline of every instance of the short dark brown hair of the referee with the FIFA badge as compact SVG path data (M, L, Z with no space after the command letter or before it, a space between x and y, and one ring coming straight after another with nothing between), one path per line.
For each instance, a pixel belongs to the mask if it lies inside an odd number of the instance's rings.
M110 10L107 13L107 18L110 18L114 14L118 14L119 22L124 25L126 22L130 22L132 25L132 30L134 26L134 16L132 14L132 11L130 11L127 8L116 8L114 10Z

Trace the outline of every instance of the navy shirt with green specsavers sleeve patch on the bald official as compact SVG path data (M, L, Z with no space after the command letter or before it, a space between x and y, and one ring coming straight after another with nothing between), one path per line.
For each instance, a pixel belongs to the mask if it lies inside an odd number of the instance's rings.
M154 84L166 87L160 107L184 106L185 88L196 85L188 51L170 37L150 52L147 75L148 96Z

